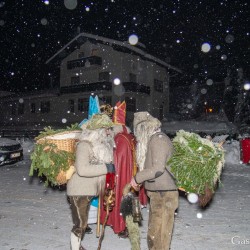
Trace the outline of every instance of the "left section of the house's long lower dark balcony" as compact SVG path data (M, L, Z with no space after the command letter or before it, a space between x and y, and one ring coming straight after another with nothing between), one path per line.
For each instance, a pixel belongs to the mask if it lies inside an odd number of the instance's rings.
M93 82L88 84L70 85L60 88L61 94L91 92L91 91L112 91L111 82Z

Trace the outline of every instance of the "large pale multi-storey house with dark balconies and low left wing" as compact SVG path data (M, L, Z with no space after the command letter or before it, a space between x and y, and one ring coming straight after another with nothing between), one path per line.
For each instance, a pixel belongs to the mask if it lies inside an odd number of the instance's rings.
M60 88L1 99L2 125L63 126L87 117L90 95L100 104L127 103L133 113L149 111L162 119L169 110L169 72L179 69L130 45L87 33L78 34L46 64L60 65ZM55 75L51 75L54 81Z

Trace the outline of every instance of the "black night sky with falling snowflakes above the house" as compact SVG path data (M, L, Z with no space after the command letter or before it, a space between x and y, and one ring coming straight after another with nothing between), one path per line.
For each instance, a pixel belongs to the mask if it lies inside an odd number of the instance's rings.
M49 87L45 62L80 32L127 41L183 70L178 84L249 78L247 0L0 0L0 90ZM202 51L208 43L210 50Z

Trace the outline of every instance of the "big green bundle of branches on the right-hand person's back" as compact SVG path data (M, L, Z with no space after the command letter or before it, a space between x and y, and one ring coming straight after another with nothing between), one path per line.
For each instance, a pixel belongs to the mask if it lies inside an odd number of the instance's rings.
M219 144L198 134L180 130L173 139L174 153L168 161L177 186L200 197L215 192L224 165L224 150ZM209 198L211 199L211 197ZM208 200L203 204L206 205Z

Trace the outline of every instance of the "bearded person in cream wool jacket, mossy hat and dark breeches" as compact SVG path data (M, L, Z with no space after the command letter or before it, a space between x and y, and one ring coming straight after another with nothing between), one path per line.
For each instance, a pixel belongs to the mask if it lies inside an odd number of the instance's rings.
M72 250L84 249L81 240L87 227L91 199L102 192L106 174L115 172L110 118L96 114L83 126L76 148L76 171L67 183L74 224L70 237Z

